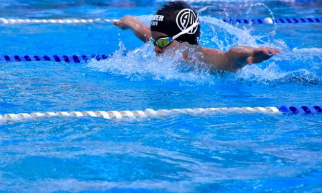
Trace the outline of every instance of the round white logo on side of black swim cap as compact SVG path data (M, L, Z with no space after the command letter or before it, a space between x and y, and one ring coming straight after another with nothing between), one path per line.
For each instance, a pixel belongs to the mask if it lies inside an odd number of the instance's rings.
M189 26L197 22L197 17L195 12L191 9L182 9L177 15L177 25L181 31L186 30ZM187 34L195 34L198 26L195 26Z

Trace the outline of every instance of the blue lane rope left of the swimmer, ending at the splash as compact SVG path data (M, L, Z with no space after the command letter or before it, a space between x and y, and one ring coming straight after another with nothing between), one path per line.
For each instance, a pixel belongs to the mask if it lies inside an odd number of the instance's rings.
M86 56L86 55L80 55L80 56L8 56L0 55L0 62L33 62L33 61L51 61L51 62L68 62L68 63L81 63L81 62L88 62L89 60L105 60L110 58L110 55L105 55L105 54L94 54L91 56Z

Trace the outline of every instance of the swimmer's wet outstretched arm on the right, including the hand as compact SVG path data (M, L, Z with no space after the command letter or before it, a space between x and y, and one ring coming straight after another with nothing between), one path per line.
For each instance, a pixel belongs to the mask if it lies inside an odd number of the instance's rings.
M211 64L214 69L231 72L236 72L247 64L263 62L280 53L278 49L274 48L248 46L236 46L225 52L200 46L200 52L202 52L201 60L203 62Z

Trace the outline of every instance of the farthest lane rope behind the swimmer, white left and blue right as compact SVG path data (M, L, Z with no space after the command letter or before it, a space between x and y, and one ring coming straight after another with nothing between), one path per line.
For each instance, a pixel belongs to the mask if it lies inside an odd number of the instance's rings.
M226 23L244 23L244 24L274 24L274 23L322 23L322 18L318 17L287 17L287 18L270 18L264 19L242 19L242 18L229 18L222 19ZM24 24L24 23L58 23L58 24L75 24L75 23L95 23L95 22L113 22L118 19L6 19L0 18L0 23L3 24Z

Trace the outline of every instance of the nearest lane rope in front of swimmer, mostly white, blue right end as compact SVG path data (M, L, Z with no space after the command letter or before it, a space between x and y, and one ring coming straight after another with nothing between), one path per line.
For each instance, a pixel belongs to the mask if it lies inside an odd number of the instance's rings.
M133 119L133 118L157 118L168 117L178 114L201 115L211 113L266 113L266 114L318 114L322 113L322 106L274 106L267 107L221 107L221 108L182 108L182 109L159 109L151 108L145 111L83 111L83 112L47 112L47 113L19 113L0 115L0 123L7 121L19 121L37 117L71 116L71 117L100 117L104 119Z

